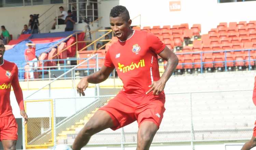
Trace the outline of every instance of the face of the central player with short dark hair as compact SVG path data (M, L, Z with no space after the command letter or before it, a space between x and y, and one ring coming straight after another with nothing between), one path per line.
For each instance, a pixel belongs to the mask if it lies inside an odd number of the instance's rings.
M110 17L110 28L121 41L127 40L129 36L129 28L131 26L131 20L128 23L123 19L122 16L112 18Z

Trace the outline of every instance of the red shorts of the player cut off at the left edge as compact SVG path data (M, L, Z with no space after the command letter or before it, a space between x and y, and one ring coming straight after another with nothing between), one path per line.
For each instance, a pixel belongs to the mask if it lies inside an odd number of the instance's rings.
M18 125L14 115L0 117L0 141L17 140L18 139Z

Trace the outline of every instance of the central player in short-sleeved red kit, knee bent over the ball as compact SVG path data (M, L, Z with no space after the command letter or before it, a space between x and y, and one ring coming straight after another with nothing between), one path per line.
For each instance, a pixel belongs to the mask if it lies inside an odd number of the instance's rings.
M131 29L129 12L115 6L110 12L110 26L118 42L106 52L102 68L81 79L77 92L84 96L88 83L98 84L117 69L124 88L102 106L77 135L73 150L80 150L90 137L104 129L119 129L138 122L137 150L148 150L159 129L165 111L163 89L178 64L176 55L154 34ZM167 60L160 77L157 55Z

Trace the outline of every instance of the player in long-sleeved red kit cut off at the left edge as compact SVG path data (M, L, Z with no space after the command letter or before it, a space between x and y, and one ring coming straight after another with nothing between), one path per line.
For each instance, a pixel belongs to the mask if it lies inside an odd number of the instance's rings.
M4 52L4 41L0 36L0 141L4 150L16 150L18 125L10 103L11 86L19 105L20 115L25 118L24 125L28 121L28 116L24 110L22 89L19 86L18 67L15 63L3 59Z

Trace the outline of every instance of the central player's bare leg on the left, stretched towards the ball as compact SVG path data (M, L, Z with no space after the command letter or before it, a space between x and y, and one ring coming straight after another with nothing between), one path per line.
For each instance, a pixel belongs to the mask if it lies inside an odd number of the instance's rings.
M113 127L114 123L108 112L104 110L98 110L93 117L85 124L84 128L79 132L72 145L73 150L80 150L84 147L92 135Z

